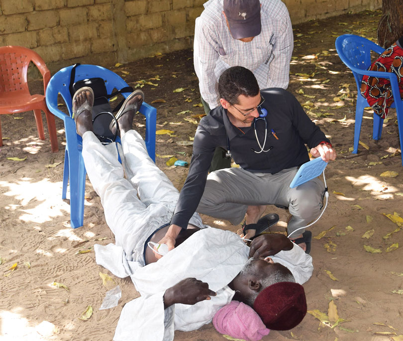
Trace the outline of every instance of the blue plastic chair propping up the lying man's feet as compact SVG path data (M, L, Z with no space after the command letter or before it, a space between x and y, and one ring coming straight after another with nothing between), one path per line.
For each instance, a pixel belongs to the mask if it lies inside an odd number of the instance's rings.
M62 198L66 199L67 184L70 181L70 219L71 226L77 228L83 226L84 222L84 193L86 181L86 169L81 155L83 140L76 132L76 124L72 118L72 96L70 95L70 75L73 66L65 67L58 71L49 81L46 89L46 104L49 110L63 120L66 132L66 151L64 157ZM121 89L128 86L127 83L114 72L96 65L79 65L76 68L75 81L101 77L105 80L107 92L112 93L113 89ZM58 94L66 103L69 115L58 109ZM127 98L130 93L123 93ZM140 113L146 117L145 144L148 155L155 162L155 131L157 110L143 102Z

